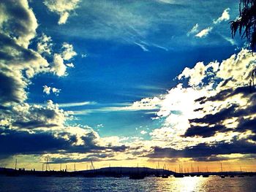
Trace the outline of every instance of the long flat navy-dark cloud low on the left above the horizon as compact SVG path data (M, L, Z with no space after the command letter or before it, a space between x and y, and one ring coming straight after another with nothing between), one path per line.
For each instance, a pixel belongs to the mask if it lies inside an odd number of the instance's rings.
M90 137L91 134L89 134ZM127 146L74 145L73 139L54 137L53 134L40 132L29 134L27 131L0 131L0 155L45 154L45 153L93 153L91 157L104 158L104 154L123 152ZM62 150L62 151L60 151ZM97 154L97 155L95 155ZM102 155L99 155L102 154ZM110 155L108 155L110 157Z

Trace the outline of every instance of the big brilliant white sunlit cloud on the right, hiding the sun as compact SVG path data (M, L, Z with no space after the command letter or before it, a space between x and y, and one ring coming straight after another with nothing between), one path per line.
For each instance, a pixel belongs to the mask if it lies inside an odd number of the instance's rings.
M247 88L246 93L249 93L249 88L246 86L252 70L256 67L255 61L255 55L249 53L248 50L241 50L238 55L232 55L221 63L217 61L209 64L199 62L192 69L184 69L178 79L187 79L188 87L185 83L178 84L176 88L170 89L161 98L155 99L157 102L153 102L157 103L153 106L159 107L158 112L155 113L157 117L154 119L162 118L164 120L161 128L156 128L149 133L154 144L159 147L172 147L181 150L184 147L195 146L200 143L214 145L218 142L232 142L234 138L240 138L241 133L236 131L240 120L244 118L253 120L256 117L254 114L225 117L221 121L221 126L232 128L232 131L224 129L223 132L217 131L208 137L184 137L183 135L191 126L207 126L209 130L218 126L218 120L213 121L215 123L207 123L207 121L203 123L203 119L207 115L218 115L219 112L230 106L238 106L236 110L244 109L250 112L249 107L255 104L255 101L249 101L249 95L243 92L236 93L236 88ZM232 90L230 96L227 95L225 99L208 99L222 98L223 94L230 89ZM222 91L225 92L222 93ZM203 102L202 98L206 98L206 101ZM143 99L138 101L134 107L140 106L142 101ZM145 99L145 101L147 101L146 106L148 104L151 106L150 99ZM196 119L195 123L191 122L194 119ZM247 131L245 137L249 138L252 135L254 135L252 132Z

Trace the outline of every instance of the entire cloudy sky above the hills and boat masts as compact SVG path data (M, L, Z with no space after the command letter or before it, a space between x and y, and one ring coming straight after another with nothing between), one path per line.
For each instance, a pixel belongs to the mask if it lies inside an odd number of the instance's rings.
M238 1L0 1L0 165L254 170Z

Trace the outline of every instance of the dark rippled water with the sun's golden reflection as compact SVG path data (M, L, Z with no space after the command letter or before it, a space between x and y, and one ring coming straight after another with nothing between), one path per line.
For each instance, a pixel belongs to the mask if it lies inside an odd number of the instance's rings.
M0 191L256 191L256 177L0 177Z

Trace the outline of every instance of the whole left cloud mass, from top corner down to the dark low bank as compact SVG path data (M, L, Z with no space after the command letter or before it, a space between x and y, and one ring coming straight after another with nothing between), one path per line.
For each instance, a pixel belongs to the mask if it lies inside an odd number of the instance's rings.
M58 74L56 70L63 69L50 66L42 55L32 50L34 45L30 42L37 34L37 19L27 1L0 1L0 7L0 120L3 120L0 155L93 153L89 158L96 160L105 158L104 153L127 150L125 145L99 142L100 138L93 130L84 131L82 137L75 130L70 131L65 125L68 112L59 110L52 101L46 107L25 103L28 85L35 74ZM64 45L59 54L62 67L66 67L63 59L76 54L72 45ZM78 144L81 139L82 144Z

